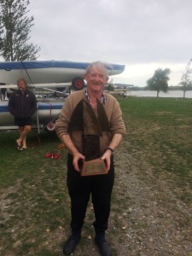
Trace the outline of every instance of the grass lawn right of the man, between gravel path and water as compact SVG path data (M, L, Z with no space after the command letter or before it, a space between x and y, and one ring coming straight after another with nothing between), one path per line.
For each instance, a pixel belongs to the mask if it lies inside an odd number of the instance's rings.
M192 100L126 98L120 104L132 150L143 152L154 175L172 173L181 198L191 202Z

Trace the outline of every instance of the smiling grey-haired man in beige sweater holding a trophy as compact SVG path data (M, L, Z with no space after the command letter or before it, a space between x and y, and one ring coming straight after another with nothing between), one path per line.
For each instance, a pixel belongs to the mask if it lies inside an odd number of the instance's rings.
M113 150L125 135L125 124L119 103L104 93L108 82L108 68L101 61L87 67L84 79L85 90L73 92L56 122L56 132L68 149L67 188L71 198L71 230L63 253L70 255L81 238L81 230L90 195L95 212L93 226L95 242L102 255L110 256L112 251L106 241L111 194L114 180ZM94 164L91 160L96 160ZM105 174L82 175L82 165L91 163L96 169L100 160L104 162ZM102 169L102 166L99 167ZM95 175L94 175L95 174Z

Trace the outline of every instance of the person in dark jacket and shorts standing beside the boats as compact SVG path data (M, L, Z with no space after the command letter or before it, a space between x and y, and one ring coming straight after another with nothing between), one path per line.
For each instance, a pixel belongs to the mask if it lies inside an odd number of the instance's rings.
M15 125L19 126L20 137L15 141L16 148L26 149L26 136L32 129L32 114L37 110L36 96L27 89L25 79L17 80L18 90L9 97L9 112L15 117Z

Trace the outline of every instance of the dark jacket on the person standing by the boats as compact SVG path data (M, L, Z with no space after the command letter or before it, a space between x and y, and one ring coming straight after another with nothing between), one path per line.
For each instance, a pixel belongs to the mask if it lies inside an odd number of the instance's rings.
M36 96L28 89L25 90L24 95L20 90L15 90L9 97L8 108L15 118L29 118L37 110Z

